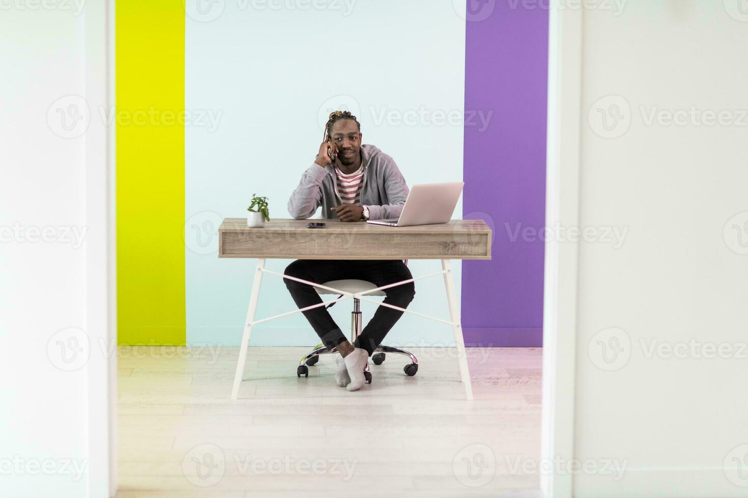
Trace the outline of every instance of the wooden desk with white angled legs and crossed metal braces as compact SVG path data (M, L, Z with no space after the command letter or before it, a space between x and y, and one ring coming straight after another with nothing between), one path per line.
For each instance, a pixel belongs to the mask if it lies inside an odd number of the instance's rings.
M325 222L325 228L307 228L309 222ZM465 385L465 396L473 399L470 386L468 359L465 355L465 341L462 337L462 323L453 281L452 259L491 259L491 228L483 220L451 220L439 225L419 225L394 227L373 225L367 222L341 222L340 220L283 220L272 219L263 228L249 228L245 218L227 218L218 228L218 258L257 258L254 284L249 299L247 320L245 320L242 346L239 361L236 365L232 399L239 395L247 359L247 348L251 337L252 326L260 322L285 317L289 314L307 309L339 302L343 299L361 299L378 305L394 308L405 313L448 323L452 326L457 345L460 376ZM447 292L447 303L450 308L450 320L430 317L405 308L398 308L370 299L370 294L382 287L361 293L349 293L322 285L322 282L310 282L273 272L265 268L267 258L284 259L439 259L441 272L388 284L394 287L410 281L444 275L444 287ZM321 302L308 308L301 308L275 317L254 320L257 311L257 299L260 296L260 285L263 273L271 273L282 278L291 278L304 284L336 290L343 297L328 302ZM383 286L385 287L385 286Z

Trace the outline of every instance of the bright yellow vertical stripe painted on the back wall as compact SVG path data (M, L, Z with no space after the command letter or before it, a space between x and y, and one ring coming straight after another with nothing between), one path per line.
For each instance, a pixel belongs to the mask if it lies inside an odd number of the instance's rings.
M118 342L184 344L182 1L117 0L116 33Z

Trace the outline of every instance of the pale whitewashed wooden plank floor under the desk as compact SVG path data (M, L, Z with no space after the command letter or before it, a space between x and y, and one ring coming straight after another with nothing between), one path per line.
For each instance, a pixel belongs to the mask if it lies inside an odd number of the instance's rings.
M542 349L468 349L465 401L455 349L412 348L371 364L355 393L307 348L120 347L119 492L136 497L539 497L514 465L540 452ZM513 469L513 471L512 471Z

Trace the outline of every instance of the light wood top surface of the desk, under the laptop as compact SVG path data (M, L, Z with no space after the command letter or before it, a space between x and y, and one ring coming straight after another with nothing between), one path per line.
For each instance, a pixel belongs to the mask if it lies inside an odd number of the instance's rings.
M310 222L323 222L325 228L307 228ZM360 222L342 222L340 220L320 220L319 218L309 218L307 220L290 220L286 218L271 218L265 222L263 228L249 228L246 218L226 218L218 231L270 231L270 232L289 232L289 231L328 231L328 232L352 232L366 231L370 234L384 233L391 234L393 231L407 232L411 234L438 234L440 232L469 232L469 233L491 233L491 228L483 220L450 220L446 223L437 223L435 225L414 225L414 226L387 226L375 225L374 223Z

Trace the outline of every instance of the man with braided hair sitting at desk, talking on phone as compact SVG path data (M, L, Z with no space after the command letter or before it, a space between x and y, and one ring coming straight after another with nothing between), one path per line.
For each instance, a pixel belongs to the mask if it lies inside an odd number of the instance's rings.
M335 111L325 125L325 138L314 163L309 166L288 201L288 211L296 220L312 216L322 205L322 217L342 222L382 220L399 217L408 185L390 156L375 146L361 145L361 125L349 111ZM377 287L413 278L403 261L296 260L285 274L324 284L326 281L355 278ZM314 287L284 278L299 308L322 302ZM384 302L407 308L413 300L413 282L384 290ZM335 381L347 390L364 386L364 368L376 347L395 325L402 311L378 306L364 330L352 344L346 339L324 306L302 311L328 349L337 347Z

